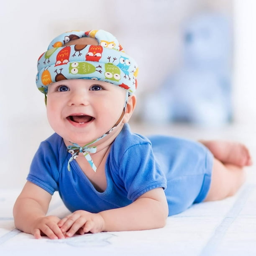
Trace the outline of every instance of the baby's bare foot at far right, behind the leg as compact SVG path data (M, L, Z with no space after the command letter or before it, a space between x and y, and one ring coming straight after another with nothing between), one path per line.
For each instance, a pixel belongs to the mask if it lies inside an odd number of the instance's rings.
M225 164L238 166L252 165L248 148L239 142L233 141L200 141L212 152L213 156Z

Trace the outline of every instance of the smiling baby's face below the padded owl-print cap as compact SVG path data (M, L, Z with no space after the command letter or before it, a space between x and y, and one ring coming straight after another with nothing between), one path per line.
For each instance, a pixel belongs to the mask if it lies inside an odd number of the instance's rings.
M50 84L47 117L64 141L84 146L99 138L118 121L123 112L126 91L108 82L66 79ZM117 136L116 128L111 135ZM116 133L116 134L115 134Z

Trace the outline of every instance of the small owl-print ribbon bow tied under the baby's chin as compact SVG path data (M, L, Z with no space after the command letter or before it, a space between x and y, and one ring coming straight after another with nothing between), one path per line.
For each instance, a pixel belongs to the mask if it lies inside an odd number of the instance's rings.
M80 147L77 143L72 143L72 146L67 146L67 151L72 154L72 156L69 158L68 162L68 170L70 171L70 162L77 158L79 153L83 153L84 157L89 162L90 166L92 167L93 171L96 172L97 167L92 161L92 158L89 153L95 153L97 151L96 146L89 147L89 145L85 145L83 147ZM91 144L91 143L90 143Z

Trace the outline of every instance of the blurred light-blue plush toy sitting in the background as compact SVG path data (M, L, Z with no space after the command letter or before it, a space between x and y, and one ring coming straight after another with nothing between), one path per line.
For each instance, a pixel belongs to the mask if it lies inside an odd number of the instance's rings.
M145 101L143 120L220 126L232 120L230 21L201 14L184 29L183 64Z

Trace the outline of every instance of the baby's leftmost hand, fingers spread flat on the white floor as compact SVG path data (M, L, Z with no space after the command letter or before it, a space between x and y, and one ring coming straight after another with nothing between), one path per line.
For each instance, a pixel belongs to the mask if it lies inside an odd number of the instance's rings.
M59 221L60 218L56 216L38 218L33 225L31 233L37 239L41 238L41 234L44 234L51 239L63 239L65 236L58 226Z

